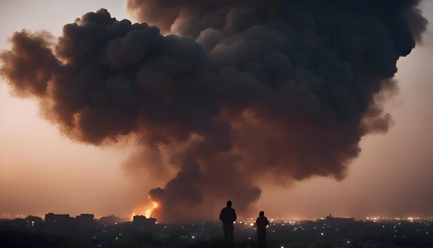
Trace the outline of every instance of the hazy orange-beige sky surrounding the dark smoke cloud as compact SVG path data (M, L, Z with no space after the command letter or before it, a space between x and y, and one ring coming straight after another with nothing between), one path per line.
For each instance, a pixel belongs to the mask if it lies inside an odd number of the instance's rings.
M107 8L117 19L129 18L122 0L3 0L0 49L10 47L7 39L15 31L44 29L59 36L64 24L99 8ZM432 1L424 1L423 13L433 20ZM286 218L320 218L329 213L356 218L432 217L431 54L433 28L428 26L423 43L398 60L399 92L385 104L394 125L387 134L362 137L362 152L344 179L313 177L289 185L259 181L257 211ZM140 180L146 177L130 175L122 163L134 150L128 141L102 147L71 141L40 116L34 98L11 96L8 85L0 81L1 215L55 212L129 217L133 211L142 212L149 204L147 191L169 176L146 184ZM235 209L236 204L233 200Z

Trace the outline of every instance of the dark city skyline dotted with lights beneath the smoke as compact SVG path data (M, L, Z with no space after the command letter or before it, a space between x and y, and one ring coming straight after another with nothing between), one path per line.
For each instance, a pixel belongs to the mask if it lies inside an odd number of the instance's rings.
M431 247L433 220L354 220L328 215L319 220L270 219L270 247ZM234 247L256 247L255 218L234 223ZM85 213L47 213L5 220L0 218L2 245L14 247L222 247L221 223L157 223L134 216L94 218Z

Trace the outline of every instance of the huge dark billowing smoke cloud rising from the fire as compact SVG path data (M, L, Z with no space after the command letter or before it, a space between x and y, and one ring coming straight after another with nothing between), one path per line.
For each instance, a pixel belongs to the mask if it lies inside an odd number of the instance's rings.
M258 179L342 179L361 137L387 132L378 98L396 90L398 57L427 25L417 0L126 6L156 26L101 9L57 40L23 30L1 53L1 75L71 139L133 137L127 169L162 177L174 168L149 191L162 222L212 220L226 200L245 215Z

